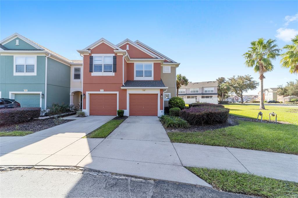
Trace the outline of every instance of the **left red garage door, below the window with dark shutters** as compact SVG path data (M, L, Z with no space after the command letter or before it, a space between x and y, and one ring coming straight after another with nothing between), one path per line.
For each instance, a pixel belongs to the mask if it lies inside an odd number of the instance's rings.
M117 115L117 94L90 94L90 115Z

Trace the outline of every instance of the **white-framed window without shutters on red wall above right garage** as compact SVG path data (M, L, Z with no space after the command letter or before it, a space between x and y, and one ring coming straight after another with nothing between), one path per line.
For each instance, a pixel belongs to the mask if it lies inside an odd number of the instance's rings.
M135 63L135 80L153 80L153 63Z

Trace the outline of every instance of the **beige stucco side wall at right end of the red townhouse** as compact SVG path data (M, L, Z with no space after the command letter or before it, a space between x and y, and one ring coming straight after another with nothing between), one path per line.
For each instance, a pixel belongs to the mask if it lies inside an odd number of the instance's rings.
M160 77L167 89L165 93L171 93L171 98L176 96L176 67L171 67L171 73L163 73L163 67L160 70ZM168 101L164 101L164 106L168 106Z

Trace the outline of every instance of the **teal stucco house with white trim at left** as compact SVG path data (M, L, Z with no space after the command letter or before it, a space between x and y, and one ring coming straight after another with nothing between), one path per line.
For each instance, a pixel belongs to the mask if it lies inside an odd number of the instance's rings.
M42 109L69 104L71 69L81 65L15 33L0 41L0 98Z

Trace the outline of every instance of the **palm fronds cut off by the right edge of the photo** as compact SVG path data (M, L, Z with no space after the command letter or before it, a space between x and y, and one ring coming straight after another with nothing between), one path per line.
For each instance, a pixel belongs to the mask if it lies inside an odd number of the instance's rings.
M280 56L282 59L280 63L282 67L290 68L290 73L298 73L298 35L292 39L291 45L285 45L283 49L287 49L285 53Z

